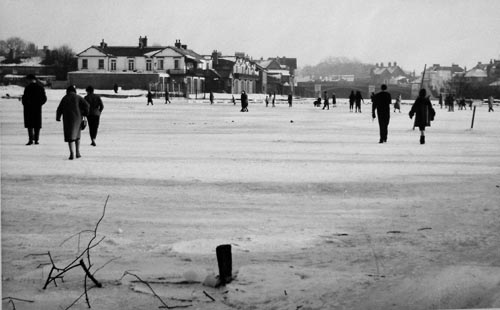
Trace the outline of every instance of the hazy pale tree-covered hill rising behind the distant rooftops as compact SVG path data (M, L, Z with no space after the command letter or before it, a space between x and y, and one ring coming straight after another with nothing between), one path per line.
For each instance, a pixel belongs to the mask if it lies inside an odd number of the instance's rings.
M315 66L305 66L297 73L301 77L319 79L333 75L354 75L356 79L370 77L373 64L365 64L356 59L347 57L328 57Z

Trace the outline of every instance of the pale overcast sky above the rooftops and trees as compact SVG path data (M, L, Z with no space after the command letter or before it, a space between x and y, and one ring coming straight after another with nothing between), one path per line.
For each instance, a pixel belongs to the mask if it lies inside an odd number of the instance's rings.
M468 68L500 59L500 0L0 0L0 39L76 53L108 45L173 45L199 54L244 52Z

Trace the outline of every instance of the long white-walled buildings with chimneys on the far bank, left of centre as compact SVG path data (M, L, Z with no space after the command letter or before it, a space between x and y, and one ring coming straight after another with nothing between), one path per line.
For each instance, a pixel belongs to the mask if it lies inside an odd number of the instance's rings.
M295 58L253 60L244 53L201 55L176 40L173 46L149 46L139 37L136 46L108 46L104 40L78 53L78 70L69 83L111 89L149 89L173 95L207 92L293 92Z

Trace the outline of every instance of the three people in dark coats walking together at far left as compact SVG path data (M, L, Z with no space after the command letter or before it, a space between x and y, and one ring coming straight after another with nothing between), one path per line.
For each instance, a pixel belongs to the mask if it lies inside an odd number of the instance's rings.
M24 127L28 129L28 143L39 144L42 128L42 106L47 101L45 89L33 74L26 76L28 82L22 97ZM96 146L97 131L104 105L99 95L94 94L94 88L88 86L87 95L77 95L75 86L66 89L66 95L61 99L56 111L56 121L63 121L64 141L68 143L69 159L80 158L80 137L82 125L88 121L91 145Z

